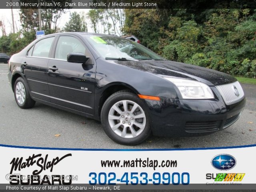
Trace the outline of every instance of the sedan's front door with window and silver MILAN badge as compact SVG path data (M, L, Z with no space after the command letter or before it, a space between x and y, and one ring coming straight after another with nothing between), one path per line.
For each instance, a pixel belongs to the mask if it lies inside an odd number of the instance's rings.
M67 54L80 52L90 59L85 63L67 62ZM96 66L92 54L80 38L60 35L48 63L48 86L51 102L80 112L94 112Z

